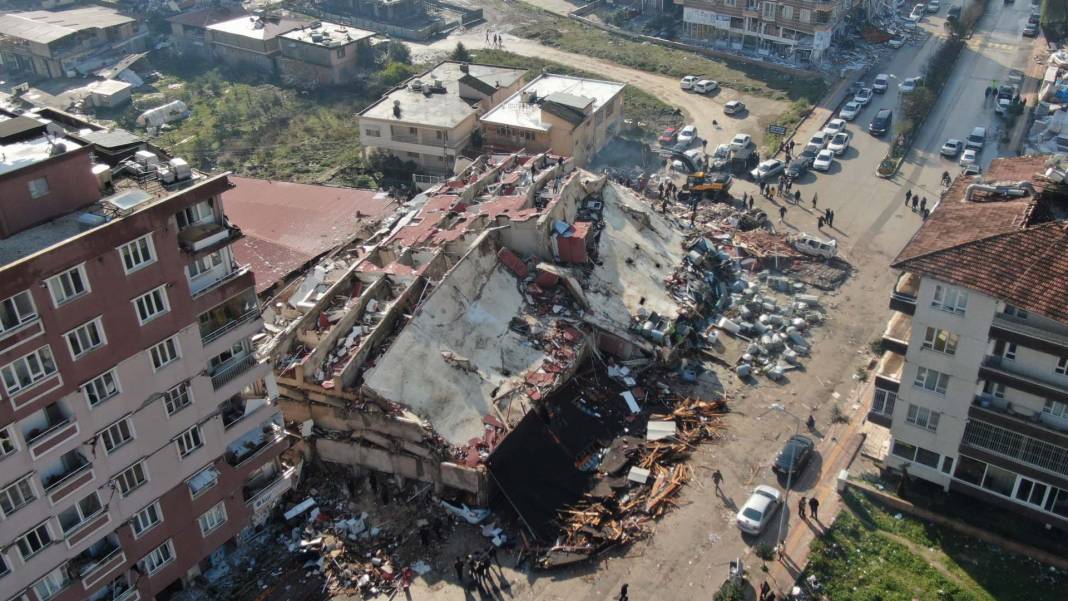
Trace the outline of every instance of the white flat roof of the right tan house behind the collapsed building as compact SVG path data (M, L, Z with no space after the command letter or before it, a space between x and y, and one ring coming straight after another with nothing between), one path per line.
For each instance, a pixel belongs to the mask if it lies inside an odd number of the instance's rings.
M482 121L494 125L548 131L549 124L541 118L543 109L539 102L549 100L572 110L582 110L579 107L585 102L581 102L580 99L586 99L593 104L590 110L594 112L623 92L625 85L615 81L545 74L483 115ZM538 102L522 101L523 94L527 92L535 93ZM586 104L586 106L588 105Z

